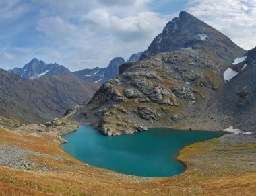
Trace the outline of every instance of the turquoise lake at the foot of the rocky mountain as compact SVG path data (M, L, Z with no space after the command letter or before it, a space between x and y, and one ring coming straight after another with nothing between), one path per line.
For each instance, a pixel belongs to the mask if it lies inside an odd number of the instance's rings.
M63 136L62 149L92 166L127 175L169 177L185 171L179 150L193 142L221 136L220 132L152 128L131 135L103 136L91 126L80 126Z

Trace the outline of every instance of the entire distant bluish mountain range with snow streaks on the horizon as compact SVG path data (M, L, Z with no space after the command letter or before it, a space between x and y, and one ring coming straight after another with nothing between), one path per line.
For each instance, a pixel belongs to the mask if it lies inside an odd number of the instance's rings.
M142 52L133 54L127 62L135 62L139 60ZM38 79L45 75L74 75L79 79L93 83L104 83L109 79L114 79L119 75L119 66L124 64L125 60L121 57L113 58L106 68L86 68L71 72L65 66L57 63L46 64L45 62L33 58L28 64L25 64L23 68L13 68L8 70L10 73L19 75L24 79Z

